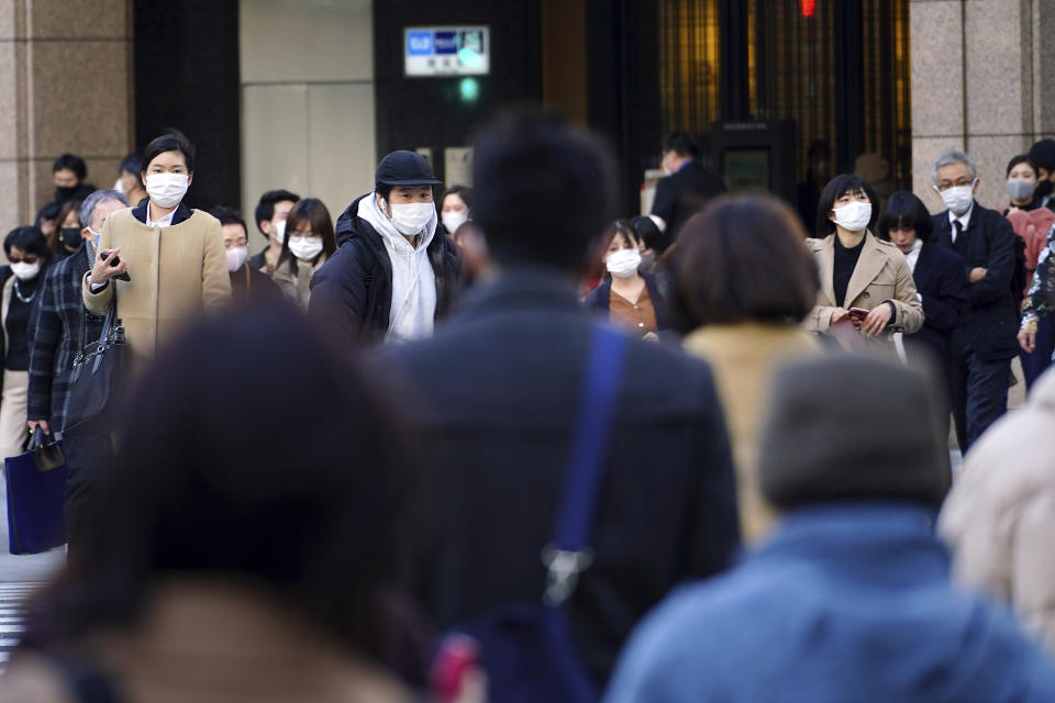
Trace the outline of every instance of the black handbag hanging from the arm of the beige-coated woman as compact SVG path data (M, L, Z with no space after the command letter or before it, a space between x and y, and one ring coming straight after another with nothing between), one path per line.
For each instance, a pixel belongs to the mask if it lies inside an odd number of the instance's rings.
M115 286L112 281L111 286ZM88 312L80 328L81 352L74 359L66 395L66 423L63 436L74 437L99 432L113 422L120 386L125 378L127 357L124 327L118 320L118 291L114 289L102 332L95 342L87 342Z

